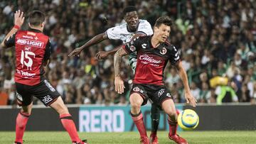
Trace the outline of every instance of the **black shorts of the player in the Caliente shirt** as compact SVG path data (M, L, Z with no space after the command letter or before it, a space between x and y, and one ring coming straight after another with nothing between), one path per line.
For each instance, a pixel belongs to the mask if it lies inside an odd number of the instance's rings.
M131 94L138 93L144 99L142 106L147 103L148 99L151 99L153 104L161 108L161 104L166 99L173 99L169 89L164 85L154 84L133 84Z

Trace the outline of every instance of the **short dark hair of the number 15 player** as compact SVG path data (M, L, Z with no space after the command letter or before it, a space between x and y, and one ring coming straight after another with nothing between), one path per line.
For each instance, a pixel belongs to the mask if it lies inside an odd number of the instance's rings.
M41 11L31 11L28 15L28 23L32 26L39 26L45 21L45 14Z

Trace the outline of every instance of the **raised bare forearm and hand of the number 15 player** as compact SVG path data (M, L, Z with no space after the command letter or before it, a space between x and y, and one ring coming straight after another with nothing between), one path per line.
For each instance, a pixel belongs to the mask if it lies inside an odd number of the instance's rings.
M9 46L5 44L6 40L9 40L11 35L14 35L21 28L25 18L23 17L23 11L18 10L14 13L14 28L9 31L9 33L4 37L4 40L1 42L1 48L8 48Z

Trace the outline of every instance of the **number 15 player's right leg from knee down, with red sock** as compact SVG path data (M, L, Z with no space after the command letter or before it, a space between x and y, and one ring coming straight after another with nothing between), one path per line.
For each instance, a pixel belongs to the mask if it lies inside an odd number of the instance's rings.
M63 127L70 135L70 138L73 144L87 144L86 140L81 140L78 136L78 131L75 128L75 123L72 119L72 116L68 112L67 106L65 106L63 100L59 96L53 104L50 104L50 107L55 109L60 114L60 121L63 123Z

